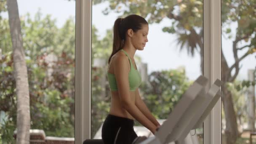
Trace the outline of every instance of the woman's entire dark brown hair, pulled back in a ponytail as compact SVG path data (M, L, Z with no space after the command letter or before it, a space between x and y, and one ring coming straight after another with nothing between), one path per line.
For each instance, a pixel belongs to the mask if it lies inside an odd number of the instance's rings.
M117 53L124 46L125 33L128 29L132 29L133 32L137 32L141 29L142 24L148 24L147 21L136 14L126 16L124 19L118 18L114 24L114 39L113 39L113 50L109 56L108 64L112 56Z

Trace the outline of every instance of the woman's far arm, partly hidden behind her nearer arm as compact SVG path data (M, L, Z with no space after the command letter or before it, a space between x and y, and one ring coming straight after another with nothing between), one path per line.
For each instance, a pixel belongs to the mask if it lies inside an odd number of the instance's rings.
M159 127L160 124L155 119L155 117L151 114L149 109L147 108L147 105L144 103L144 101L141 99L139 95L139 89L136 88L136 99L135 99L135 105L139 108L139 110L152 122L155 124L155 126Z

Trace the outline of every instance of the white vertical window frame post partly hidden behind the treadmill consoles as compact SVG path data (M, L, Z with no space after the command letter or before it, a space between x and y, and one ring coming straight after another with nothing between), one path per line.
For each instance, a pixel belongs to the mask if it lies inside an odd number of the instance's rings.
M221 80L221 0L203 0L203 75ZM221 98L204 121L203 143L221 144Z

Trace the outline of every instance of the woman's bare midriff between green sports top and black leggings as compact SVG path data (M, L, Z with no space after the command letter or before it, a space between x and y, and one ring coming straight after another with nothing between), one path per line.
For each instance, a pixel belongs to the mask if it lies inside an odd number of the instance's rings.
M135 91L130 91L131 101L135 104ZM127 112L120 102L118 91L111 91L111 106L109 114L118 117L125 117L134 120L134 118Z

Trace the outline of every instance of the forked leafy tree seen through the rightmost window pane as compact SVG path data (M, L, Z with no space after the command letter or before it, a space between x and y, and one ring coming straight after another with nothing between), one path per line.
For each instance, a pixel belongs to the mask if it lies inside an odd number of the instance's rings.
M222 51L223 48L221 48L221 80L225 83L234 83L241 68L241 61L256 51L256 15L253 11L256 4L253 0L222 0L221 3L223 5L221 8L222 25L229 25L232 21L238 23L238 27L235 32L235 39L233 40L232 45L232 51L235 59L234 64L228 66L227 60ZM227 28L223 31L222 35L229 35L229 39L232 40L230 32L231 30ZM239 43L248 42L248 40L250 40L249 44L242 46L239 45ZM240 52L242 50L245 51L245 53ZM241 55L240 57L239 54ZM232 73L232 71L235 71L235 73ZM227 144L232 144L235 143L239 133L237 130L237 119L233 97L232 93L228 90L227 85L222 87L222 104L224 106L227 125L225 130L226 141Z

